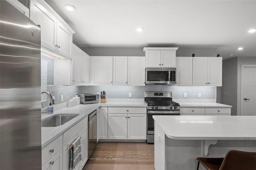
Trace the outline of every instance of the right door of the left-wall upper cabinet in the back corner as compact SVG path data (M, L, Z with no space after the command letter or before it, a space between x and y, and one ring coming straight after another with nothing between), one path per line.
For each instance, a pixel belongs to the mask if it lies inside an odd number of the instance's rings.
M82 84L89 84L90 77L90 56L82 53Z

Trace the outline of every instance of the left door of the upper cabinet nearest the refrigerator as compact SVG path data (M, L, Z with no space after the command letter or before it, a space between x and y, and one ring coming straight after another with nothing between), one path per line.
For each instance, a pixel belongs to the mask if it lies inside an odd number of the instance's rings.
M57 20L38 1L30 4L30 19L41 27L41 45L56 51Z

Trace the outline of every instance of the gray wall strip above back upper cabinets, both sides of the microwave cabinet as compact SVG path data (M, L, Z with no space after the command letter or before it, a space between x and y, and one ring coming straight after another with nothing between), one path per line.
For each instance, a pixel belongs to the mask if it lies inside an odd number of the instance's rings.
M90 56L145 56L143 48L88 47L82 48ZM177 57L216 57L216 48L179 48Z

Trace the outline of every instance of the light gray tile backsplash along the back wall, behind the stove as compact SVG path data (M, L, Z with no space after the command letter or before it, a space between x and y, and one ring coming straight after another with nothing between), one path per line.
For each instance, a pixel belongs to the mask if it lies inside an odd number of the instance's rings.
M79 93L96 93L106 91L107 98L129 98L128 93L132 93L132 98L143 99L144 91L172 91L174 99L216 99L215 87L181 87L170 85L146 85L146 86L80 86ZM187 98L183 97L184 92ZM202 98L198 98L198 93Z

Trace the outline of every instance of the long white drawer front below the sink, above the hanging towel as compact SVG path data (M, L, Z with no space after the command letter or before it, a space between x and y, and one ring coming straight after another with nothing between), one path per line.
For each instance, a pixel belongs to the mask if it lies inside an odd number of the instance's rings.
M88 124L88 116L76 123L73 127L63 133L63 147L70 141L77 133Z

